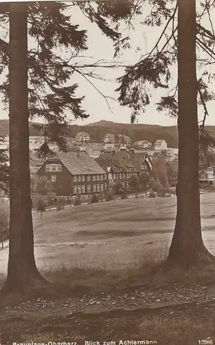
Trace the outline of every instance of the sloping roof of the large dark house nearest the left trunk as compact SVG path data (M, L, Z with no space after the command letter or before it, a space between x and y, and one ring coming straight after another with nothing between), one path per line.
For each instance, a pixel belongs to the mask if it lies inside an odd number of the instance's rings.
M105 174L95 159L86 152L79 152L79 157L76 151L59 152L56 158L61 160L72 175Z

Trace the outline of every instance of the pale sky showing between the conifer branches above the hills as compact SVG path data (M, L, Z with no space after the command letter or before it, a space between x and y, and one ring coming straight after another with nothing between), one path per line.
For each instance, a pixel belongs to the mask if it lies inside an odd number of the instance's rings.
M114 56L112 41L101 34L99 28L95 24L90 23L79 9L73 8L70 11L70 14L72 14L72 23L79 24L80 29L88 30L88 51L84 53L85 58L80 57L78 59L80 61L90 63L99 59L112 61ZM214 13L212 15L212 18L215 19ZM145 26L141 25L141 19L143 18L139 17L138 20L136 20L134 31L130 30L128 32L127 28L123 28L123 34L125 34L125 36L129 34L131 37L132 48L130 50L124 50L123 54L117 58L118 62L120 61L127 65L136 63L137 61L139 61L141 54L150 52L150 50L154 46L154 43L156 43L159 35L161 34L162 28L146 28ZM141 50L137 51L137 47L141 48ZM83 55L83 53L81 53L81 55ZM83 107L85 108L85 110L87 110L88 114L90 114L90 117L84 120L74 120L72 114L67 113L68 119L73 120L72 124L77 125L87 125L101 120L127 124L130 123L132 110L119 105L119 102L117 101L117 97L119 95L117 95L117 93L114 91L119 86L116 81L114 81L114 79L123 75L123 68L119 68L117 70L98 69L96 70L96 72L101 73L103 77L109 79L109 81L90 79L90 81L92 81L94 85L92 86L91 83L83 79L83 77L81 77L80 75L74 75L72 77L71 83L79 83L79 90L77 92L77 95L85 95ZM215 73L215 68L213 72ZM174 86L177 77L176 66L174 66L174 68L172 69L172 77L174 78L174 81L172 81L172 86ZM100 92L108 97L108 104ZM147 108L145 108L145 112L143 112L139 116L138 122L140 124L158 124L161 126L176 125L176 119L172 119L164 115L163 113L159 113L156 111L156 102L159 101L162 95L165 95L165 92L163 92L163 90L152 89L151 95L151 104L150 106L147 106ZM116 100L113 100L112 98ZM208 105L208 110L212 114L214 107L215 101L210 102ZM0 118L6 119L8 117L8 114L3 110L1 104L0 110ZM201 117L201 111L199 112L199 114L199 116ZM207 124L215 125L215 117L213 115L207 119Z

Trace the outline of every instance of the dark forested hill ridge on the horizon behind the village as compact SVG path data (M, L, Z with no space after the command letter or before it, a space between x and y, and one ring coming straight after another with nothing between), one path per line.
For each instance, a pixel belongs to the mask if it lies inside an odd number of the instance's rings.
M215 126L206 126L213 137L215 137ZM176 126L155 126L147 124L119 124L112 121L99 121L87 126L70 126L68 137L75 137L78 132L88 132L92 141L101 141L105 134L128 135L132 141L145 139L154 143L156 139L165 139L167 146L170 148L178 147L178 132ZM0 135L8 135L8 119L0 120ZM30 125L30 135L43 135Z

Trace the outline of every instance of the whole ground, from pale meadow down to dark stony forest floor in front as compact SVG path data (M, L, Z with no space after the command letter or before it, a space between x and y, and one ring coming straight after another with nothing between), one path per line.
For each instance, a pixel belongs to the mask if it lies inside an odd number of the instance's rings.
M203 239L215 254L214 204L215 194L201 195ZM34 213L37 266L58 283L68 275L70 289L1 303L0 344L212 344L215 270L204 279L192 273L193 281L176 272L166 280L162 273L149 278L139 270L167 255L175 215L175 197L50 210L43 219ZM7 259L8 248L0 250L2 278Z

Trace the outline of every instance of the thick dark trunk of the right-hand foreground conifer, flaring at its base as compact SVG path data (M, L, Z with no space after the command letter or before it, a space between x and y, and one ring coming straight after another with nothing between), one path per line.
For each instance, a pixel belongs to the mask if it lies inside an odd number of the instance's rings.
M198 181L196 1L178 0L177 215L167 262L190 266L209 261L201 235Z

